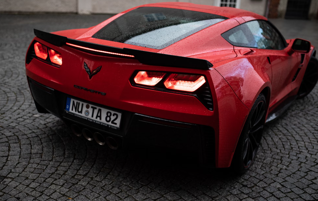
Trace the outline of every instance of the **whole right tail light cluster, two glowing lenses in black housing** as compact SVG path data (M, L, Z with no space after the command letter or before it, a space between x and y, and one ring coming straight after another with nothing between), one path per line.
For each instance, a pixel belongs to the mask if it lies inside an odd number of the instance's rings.
M137 70L129 82L134 87L194 96L213 111L211 90L203 75Z

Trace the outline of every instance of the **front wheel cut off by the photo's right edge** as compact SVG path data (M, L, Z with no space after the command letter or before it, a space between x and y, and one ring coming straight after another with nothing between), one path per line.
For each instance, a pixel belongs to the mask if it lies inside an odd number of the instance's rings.
M299 87L298 99L306 97L315 88L317 81L318 59L316 57L311 57Z

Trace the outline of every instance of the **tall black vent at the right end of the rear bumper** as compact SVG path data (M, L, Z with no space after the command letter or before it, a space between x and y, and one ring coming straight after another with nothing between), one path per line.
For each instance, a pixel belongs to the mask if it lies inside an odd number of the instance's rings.
M201 126L202 163L215 167L215 133L210 126Z

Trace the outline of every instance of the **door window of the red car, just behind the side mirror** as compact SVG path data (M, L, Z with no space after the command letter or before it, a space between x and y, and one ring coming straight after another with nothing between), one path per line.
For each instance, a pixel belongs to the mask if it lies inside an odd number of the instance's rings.
M259 49L282 50L285 43L280 34L263 20L255 20L245 23L251 30Z

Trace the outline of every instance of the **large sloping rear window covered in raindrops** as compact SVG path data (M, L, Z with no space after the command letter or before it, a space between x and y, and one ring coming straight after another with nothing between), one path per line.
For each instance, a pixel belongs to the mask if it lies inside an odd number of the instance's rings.
M162 7L140 7L108 23L92 37L163 49L227 17Z

